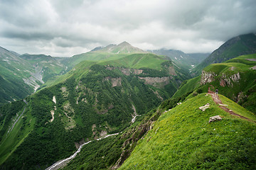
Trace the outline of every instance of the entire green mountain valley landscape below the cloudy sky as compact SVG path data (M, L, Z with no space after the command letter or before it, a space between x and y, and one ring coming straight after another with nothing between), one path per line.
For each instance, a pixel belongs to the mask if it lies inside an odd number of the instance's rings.
M210 55L1 48L0 169L255 169L254 45L249 34Z

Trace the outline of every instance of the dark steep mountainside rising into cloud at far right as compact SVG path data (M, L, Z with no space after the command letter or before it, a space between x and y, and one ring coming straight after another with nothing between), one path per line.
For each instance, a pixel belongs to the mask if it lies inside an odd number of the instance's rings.
M220 63L238 57L256 53L256 35L254 33L239 35L231 38L217 50L213 51L206 60L193 69L193 72L200 74L202 69L213 63Z

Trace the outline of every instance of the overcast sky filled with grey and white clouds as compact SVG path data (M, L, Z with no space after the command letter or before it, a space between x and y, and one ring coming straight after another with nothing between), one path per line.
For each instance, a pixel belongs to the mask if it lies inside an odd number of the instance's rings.
M143 50L212 52L256 33L255 0L0 0L0 46L73 56L124 40Z

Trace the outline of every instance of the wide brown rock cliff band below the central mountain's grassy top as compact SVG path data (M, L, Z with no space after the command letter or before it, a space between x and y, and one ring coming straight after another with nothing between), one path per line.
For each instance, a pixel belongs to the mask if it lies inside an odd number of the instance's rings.
M139 79L145 80L145 84L150 84L152 86L165 86L170 83L172 77L139 77Z

